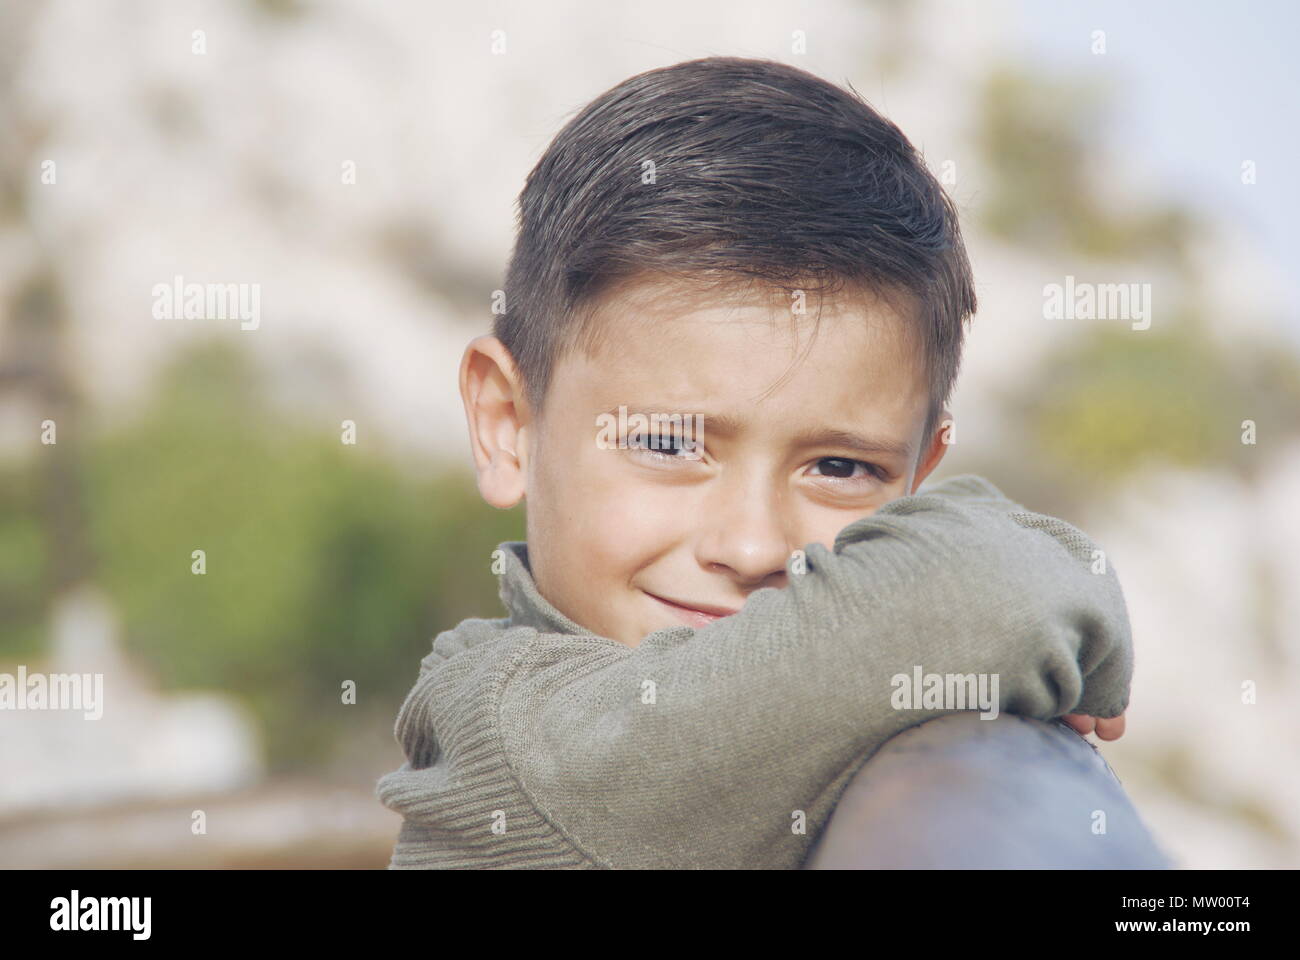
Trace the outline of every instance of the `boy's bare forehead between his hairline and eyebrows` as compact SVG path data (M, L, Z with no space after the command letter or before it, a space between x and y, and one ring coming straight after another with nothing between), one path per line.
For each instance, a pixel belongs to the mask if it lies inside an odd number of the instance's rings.
M563 356L552 382L595 412L909 419L928 399L914 310L861 289L819 303L757 284L628 282L590 308L586 349Z

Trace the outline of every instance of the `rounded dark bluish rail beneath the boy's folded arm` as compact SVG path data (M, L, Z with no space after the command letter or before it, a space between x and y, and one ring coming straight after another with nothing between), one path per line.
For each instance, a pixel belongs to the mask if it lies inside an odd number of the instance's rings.
M1169 869L1119 778L1063 721L948 714L849 780L805 869Z

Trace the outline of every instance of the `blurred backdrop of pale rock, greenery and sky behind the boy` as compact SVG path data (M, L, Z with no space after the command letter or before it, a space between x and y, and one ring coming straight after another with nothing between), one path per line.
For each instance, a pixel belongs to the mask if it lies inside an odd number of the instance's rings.
M105 686L99 721L0 710L0 866L387 864L398 708L438 631L502 615L485 558L524 539L456 390L515 199L586 101L708 55L849 82L923 150L980 297L942 473L1106 548L1136 675L1101 748L1158 842L1300 866L1297 27L1282 0L4 4L0 673ZM259 285L256 329L157 317L178 276ZM1067 277L1149 284L1149 327L1053 319Z

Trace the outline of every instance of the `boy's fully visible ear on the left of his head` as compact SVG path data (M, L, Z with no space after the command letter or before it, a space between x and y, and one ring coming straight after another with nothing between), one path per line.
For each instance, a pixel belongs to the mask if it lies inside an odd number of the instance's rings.
M512 507L526 490L532 416L515 360L495 337L474 337L465 347L460 399L469 424L478 493L494 507Z

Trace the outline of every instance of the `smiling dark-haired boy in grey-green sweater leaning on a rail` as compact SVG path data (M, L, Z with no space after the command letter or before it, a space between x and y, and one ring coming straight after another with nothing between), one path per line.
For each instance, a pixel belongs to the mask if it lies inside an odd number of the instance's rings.
M907 727L1121 718L1093 544L978 477L918 492L974 310L950 200L838 87L711 57L582 109L462 363L528 541L398 717L390 866L797 868Z

